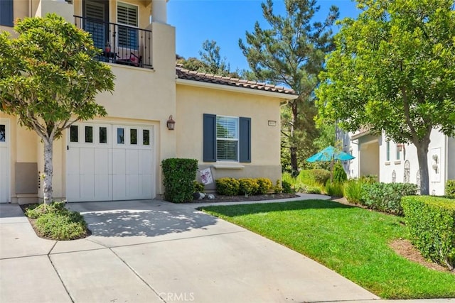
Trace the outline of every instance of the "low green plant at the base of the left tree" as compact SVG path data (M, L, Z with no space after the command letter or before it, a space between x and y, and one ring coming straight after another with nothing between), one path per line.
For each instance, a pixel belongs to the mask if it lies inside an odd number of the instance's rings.
M75 240L90 236L84 217L65 209L65 202L22 206L36 234L51 240Z

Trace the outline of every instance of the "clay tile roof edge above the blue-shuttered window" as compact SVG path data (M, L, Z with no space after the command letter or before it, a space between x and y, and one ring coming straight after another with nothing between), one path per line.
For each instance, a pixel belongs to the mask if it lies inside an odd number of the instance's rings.
M186 79L192 81L229 85L231 87L245 87L247 89L259 89L267 92L277 92L281 94L295 95L294 89L278 87L272 84L265 84L256 81L248 81L232 77L223 77L219 75L206 74L205 72L194 72L184 69L181 65L176 65L176 75L178 79Z

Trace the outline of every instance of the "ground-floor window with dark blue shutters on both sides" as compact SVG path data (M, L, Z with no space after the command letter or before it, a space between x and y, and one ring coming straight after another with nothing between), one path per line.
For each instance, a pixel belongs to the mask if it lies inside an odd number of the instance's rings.
M204 114L203 161L251 162L251 118Z

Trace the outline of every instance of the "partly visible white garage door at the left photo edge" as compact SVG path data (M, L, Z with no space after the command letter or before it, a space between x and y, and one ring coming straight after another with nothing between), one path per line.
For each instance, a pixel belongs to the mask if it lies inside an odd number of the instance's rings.
M0 203L9 202L9 124L0 119Z

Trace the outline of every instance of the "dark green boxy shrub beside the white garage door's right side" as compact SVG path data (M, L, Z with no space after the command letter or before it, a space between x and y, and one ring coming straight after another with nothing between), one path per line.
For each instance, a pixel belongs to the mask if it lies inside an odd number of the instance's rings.
M169 158L161 162L164 176L164 199L181 203L193 200L198 160Z

